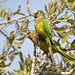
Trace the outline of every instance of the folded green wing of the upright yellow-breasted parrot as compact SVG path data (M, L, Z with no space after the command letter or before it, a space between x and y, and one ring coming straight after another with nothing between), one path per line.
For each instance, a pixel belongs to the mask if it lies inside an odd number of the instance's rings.
M54 45L53 37L51 34L51 29L50 29L50 26L49 26L48 21L46 19L43 20L43 28L44 28L46 34L48 35L48 37L51 41L51 44Z

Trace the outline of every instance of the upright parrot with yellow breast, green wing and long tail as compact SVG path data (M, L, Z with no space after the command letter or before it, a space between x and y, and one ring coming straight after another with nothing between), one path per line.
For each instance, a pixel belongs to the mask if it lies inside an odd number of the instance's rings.
M53 37L51 34L51 29L48 24L48 21L45 18L44 12L41 10L36 10L33 12L33 15L35 17L35 24L34 24L35 31L36 31L36 33L40 32L39 40L40 39L44 40L45 45L47 46L47 49L45 51L50 53L52 62L54 63L53 52L58 52L62 56L66 57L67 59L74 61L75 60L74 57L71 57L70 55L66 54L54 43ZM44 48L45 48L45 46L44 46Z

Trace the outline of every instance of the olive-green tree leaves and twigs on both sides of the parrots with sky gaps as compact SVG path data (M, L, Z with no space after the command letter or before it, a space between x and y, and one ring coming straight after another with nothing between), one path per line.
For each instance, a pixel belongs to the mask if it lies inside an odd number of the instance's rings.
M53 37L55 39L57 45L61 48L62 44L65 43L66 53L75 57L75 40L69 41L71 37L75 37L75 1L74 0L50 0L47 5L44 5L45 15L47 20L49 21L50 27L52 29ZM28 9L28 8L27 8ZM24 14L21 13L21 5L18 6L18 9L15 12L12 12L11 9L7 11L0 6L0 33L6 37L6 41L4 42L4 47L2 49L2 54L0 53L0 71L2 73L7 73L8 71L4 70L5 67L11 65L13 59L19 55L20 60L20 69L13 70L13 74L17 75L26 75L29 74L32 67L32 59L30 55L28 57L23 58L22 52L18 49L22 48L22 44L24 43L24 39L26 38L26 31L29 30L29 23L34 21L34 19L28 19L27 17L33 17L32 14ZM28 11L30 12L30 11ZM14 18L13 16L20 15L22 17ZM5 27L9 27L13 25L15 29L9 32L7 35L5 31ZM0 35L1 35L0 34ZM73 50L73 51L71 51ZM9 59L10 63L6 64L5 61ZM75 63L61 56L61 61L59 61L58 56L56 55L56 61L58 62L60 71L69 71L75 68ZM56 66L57 66L56 65ZM47 65L45 71L53 71L55 67ZM35 66L36 67L36 66Z

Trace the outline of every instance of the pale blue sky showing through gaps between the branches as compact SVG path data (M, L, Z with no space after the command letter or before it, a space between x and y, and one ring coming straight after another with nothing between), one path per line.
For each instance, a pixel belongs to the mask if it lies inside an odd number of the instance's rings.
M33 13L34 10L38 10L38 9L44 10L44 4L47 5L48 2L50 2L50 0L29 0L29 7L31 10L31 13ZM6 2L1 3L0 5L6 11L8 9L11 9L12 12L15 12L18 9L18 6L21 5L21 12L28 14L27 8L26 8L26 0L7 0ZM19 17L19 16L17 15L16 17L13 17L12 19L17 18L17 17ZM33 22L29 24L30 29L34 29L33 24L34 24ZM5 27L4 29L7 32L10 32L11 30L15 29L14 27L15 26L13 26L13 24L12 24L12 25ZM73 40L73 38L71 39L71 41L72 40ZM1 52L1 49L3 49L4 41L5 41L5 37L3 35L0 35L0 52ZM25 41L22 45L22 48L20 50L20 51L22 51L23 56L27 56L29 53L32 57L33 50L34 50L33 43L29 39L25 39ZM14 69L15 70L19 69L18 61L20 61L19 56L16 56L16 58L14 59L14 61L10 65L10 67L6 67L6 70L13 71ZM9 60L7 60L6 63L9 63Z

